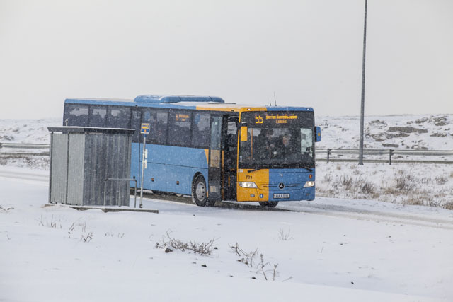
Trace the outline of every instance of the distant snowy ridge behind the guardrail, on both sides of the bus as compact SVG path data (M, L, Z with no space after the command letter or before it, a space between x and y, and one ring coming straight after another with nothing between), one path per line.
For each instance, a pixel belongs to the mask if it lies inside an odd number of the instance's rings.
M50 142L47 127L61 118L0 120L0 143ZM322 141L318 148L358 148L360 117L316 117ZM365 117L365 148L453 149L453 115L384 115Z

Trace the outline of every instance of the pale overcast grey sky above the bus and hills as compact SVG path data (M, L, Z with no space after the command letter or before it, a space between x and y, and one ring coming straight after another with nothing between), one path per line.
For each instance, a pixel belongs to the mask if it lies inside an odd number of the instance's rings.
M365 0L0 0L0 118L216 95L359 115ZM369 0L365 115L453 113L453 1Z

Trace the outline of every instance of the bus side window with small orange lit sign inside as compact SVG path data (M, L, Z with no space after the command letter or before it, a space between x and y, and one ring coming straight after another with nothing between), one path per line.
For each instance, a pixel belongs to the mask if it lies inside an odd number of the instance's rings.
M171 111L168 121L168 144L190 146L190 117L189 111Z

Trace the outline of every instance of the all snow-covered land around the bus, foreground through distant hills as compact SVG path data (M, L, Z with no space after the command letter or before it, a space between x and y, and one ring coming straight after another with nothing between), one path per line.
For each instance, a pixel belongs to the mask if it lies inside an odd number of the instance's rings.
M452 120L367 117L365 145L452 150ZM0 120L0 142L48 143L60 124ZM318 147L357 147L357 117L317 124ZM2 158L0 301L453 301L451 165L316 168L314 202L103 213L44 207L48 161Z

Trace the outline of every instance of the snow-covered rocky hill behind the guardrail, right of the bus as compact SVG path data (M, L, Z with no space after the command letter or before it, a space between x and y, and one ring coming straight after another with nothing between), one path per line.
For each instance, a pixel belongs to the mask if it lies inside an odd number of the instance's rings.
M358 149L360 117L317 117L318 148ZM453 115L367 116L364 148L453 150Z

